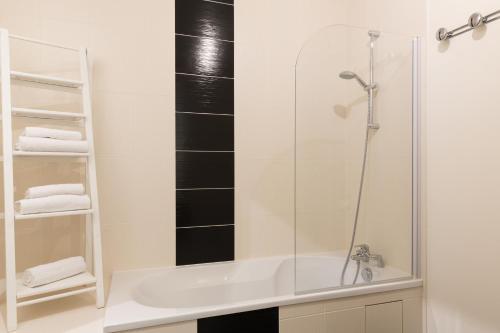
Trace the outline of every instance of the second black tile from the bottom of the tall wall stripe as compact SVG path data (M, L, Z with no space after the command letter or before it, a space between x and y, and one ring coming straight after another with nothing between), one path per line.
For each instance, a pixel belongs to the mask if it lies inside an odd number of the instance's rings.
M176 192L177 228L234 224L234 189Z

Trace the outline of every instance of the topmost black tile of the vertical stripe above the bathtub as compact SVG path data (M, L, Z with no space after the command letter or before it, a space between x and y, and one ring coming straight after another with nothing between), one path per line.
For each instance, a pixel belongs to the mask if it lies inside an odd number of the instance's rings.
M234 8L208 1L178 1L175 6L175 32L233 41Z

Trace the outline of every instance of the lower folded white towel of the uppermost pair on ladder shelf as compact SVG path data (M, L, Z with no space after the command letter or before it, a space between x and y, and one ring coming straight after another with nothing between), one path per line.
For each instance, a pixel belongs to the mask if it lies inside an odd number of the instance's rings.
M20 136L16 149L31 152L87 153L87 141L56 140Z

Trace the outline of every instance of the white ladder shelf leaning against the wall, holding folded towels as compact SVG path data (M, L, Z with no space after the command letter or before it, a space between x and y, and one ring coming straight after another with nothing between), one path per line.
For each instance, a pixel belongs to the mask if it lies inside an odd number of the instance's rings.
M60 77L46 76L34 73L12 71L10 68L10 39L23 40L49 47L75 51L80 58L80 80L68 80ZM18 108L12 106L11 81L27 81L31 84L46 87L75 89L82 95L83 113L58 112L51 110ZM99 219L99 201L97 195L97 177L95 166L94 140L92 129L92 108L90 100L90 83L87 50L74 49L20 36L9 35L5 29L0 29L0 82L2 105L2 137L3 137L3 177L4 177L4 214L5 220L5 282L7 305L7 330L17 329L17 309L36 303L58 298L78 295L86 292L96 293L96 306L104 306L104 285L102 272L101 228ZM86 138L89 152L80 153L45 153L19 152L13 150L12 117L34 117L41 119L77 120L85 123ZM65 157L83 158L86 160L86 177L92 208L81 211L54 212L33 215L16 214L14 206L14 170L15 158L34 157ZM85 259L92 272L86 272L68 279L48 285L28 288L22 284L16 272L15 223L21 220L41 219L64 216L86 217L86 250ZM25 222L29 223L29 222Z

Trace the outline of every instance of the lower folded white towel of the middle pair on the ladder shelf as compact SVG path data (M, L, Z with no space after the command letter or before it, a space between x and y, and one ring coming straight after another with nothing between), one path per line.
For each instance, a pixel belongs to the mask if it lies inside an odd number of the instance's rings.
M90 209L88 195L53 195L46 198L22 199L16 202L20 214L65 212Z

